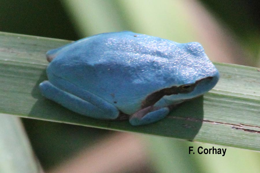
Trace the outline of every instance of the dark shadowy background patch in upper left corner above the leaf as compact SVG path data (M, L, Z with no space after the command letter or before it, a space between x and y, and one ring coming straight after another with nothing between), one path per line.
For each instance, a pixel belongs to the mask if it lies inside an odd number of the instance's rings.
M0 0L0 31L78 40L59 0Z

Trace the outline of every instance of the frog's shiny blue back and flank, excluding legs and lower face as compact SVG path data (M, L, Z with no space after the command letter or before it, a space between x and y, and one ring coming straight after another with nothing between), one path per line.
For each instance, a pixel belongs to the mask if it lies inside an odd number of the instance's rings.
M140 105L160 89L192 83L200 76L188 73L207 71L187 66L198 61L209 63L202 50L183 49L184 44L129 31L104 33L70 44L59 51L47 73L61 77L109 102ZM196 45L195 45L196 46ZM201 49L203 49L201 47ZM193 57L192 57L193 56ZM201 65L201 64L200 64ZM181 73L187 73L182 74ZM186 79L185 79L186 78ZM188 81L190 80L190 81Z

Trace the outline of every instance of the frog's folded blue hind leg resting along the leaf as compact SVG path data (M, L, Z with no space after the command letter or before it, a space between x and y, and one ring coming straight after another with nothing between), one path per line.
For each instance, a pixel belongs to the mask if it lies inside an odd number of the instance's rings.
M64 82L64 81L63 81ZM44 97L51 99L62 106L96 119L116 119L119 115L118 109L104 99L80 88L66 83L71 92L60 89L51 84L49 81L40 83L40 91ZM83 95L79 97L79 93Z

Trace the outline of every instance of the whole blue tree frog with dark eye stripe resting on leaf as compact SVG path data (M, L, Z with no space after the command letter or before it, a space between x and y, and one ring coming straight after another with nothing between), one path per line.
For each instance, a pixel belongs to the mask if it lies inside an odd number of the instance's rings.
M96 119L132 125L163 119L219 79L197 42L180 44L130 31L87 37L47 52L42 95ZM129 115L129 116L126 116Z

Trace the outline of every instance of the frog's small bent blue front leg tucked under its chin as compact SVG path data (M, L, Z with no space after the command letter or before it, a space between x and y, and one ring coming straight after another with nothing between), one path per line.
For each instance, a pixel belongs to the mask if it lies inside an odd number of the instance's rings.
M168 107L148 106L141 109L130 116L129 122L131 125L145 125L154 123L166 117L170 112Z

